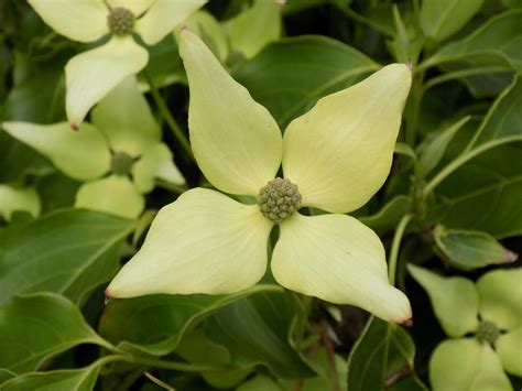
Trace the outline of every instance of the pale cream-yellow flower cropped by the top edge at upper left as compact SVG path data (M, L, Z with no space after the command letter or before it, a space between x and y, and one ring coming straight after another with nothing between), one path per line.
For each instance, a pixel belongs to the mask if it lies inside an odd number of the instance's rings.
M99 47L74 56L65 66L66 112L77 129L90 108L129 75L143 69L148 45L155 45L206 0L29 0L54 31L69 40L95 42Z

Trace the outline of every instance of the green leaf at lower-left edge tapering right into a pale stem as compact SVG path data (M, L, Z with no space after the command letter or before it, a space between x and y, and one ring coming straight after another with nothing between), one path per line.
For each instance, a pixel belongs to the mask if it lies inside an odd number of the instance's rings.
M67 298L51 293L15 296L0 306L0 367L18 374L79 344L108 346Z

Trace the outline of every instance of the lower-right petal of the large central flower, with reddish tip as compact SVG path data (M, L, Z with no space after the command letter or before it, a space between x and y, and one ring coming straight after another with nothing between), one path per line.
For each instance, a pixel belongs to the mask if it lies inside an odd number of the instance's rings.
M404 323L412 316L407 297L388 281L379 237L350 216L296 213L283 220L272 273L290 290L357 305L384 321Z

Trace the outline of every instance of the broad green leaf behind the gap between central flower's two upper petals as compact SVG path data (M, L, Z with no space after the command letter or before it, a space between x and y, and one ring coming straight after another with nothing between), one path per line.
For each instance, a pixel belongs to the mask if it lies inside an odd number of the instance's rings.
M297 36L267 46L233 77L265 106L280 127L306 112L317 99L349 87L379 65L326 36Z

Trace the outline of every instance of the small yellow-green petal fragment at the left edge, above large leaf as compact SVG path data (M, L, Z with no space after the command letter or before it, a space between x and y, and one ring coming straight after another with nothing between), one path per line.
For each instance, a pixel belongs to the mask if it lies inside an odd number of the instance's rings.
M0 217L9 221L17 210L29 211L36 217L40 208L40 198L34 188L0 184Z

